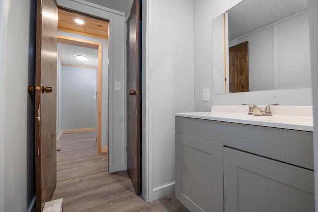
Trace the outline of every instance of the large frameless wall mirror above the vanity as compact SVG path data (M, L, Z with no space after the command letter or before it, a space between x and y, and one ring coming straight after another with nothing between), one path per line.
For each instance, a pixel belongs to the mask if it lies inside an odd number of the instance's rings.
M212 29L213 94L311 87L307 0L243 0Z

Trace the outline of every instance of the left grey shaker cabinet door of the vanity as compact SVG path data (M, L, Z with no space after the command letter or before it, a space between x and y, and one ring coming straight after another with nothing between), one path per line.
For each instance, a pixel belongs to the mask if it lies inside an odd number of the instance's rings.
M175 197L191 212L223 212L223 145L175 134Z

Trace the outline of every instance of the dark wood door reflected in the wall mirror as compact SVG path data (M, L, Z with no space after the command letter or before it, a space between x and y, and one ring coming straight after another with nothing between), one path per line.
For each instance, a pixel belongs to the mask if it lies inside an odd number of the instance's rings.
M249 91L248 41L229 48L229 90Z

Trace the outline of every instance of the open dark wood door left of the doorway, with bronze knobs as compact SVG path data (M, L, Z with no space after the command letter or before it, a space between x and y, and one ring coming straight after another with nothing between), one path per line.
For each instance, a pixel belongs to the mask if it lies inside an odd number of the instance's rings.
M57 22L56 1L38 0L34 89L37 212L51 200L56 185Z

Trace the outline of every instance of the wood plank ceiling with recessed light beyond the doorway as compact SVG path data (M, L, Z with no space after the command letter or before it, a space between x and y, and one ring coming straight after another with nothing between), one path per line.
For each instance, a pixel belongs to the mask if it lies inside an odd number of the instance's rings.
M86 23L79 25L74 18L81 18ZM58 30L108 40L108 21L94 19L78 13L59 9Z

